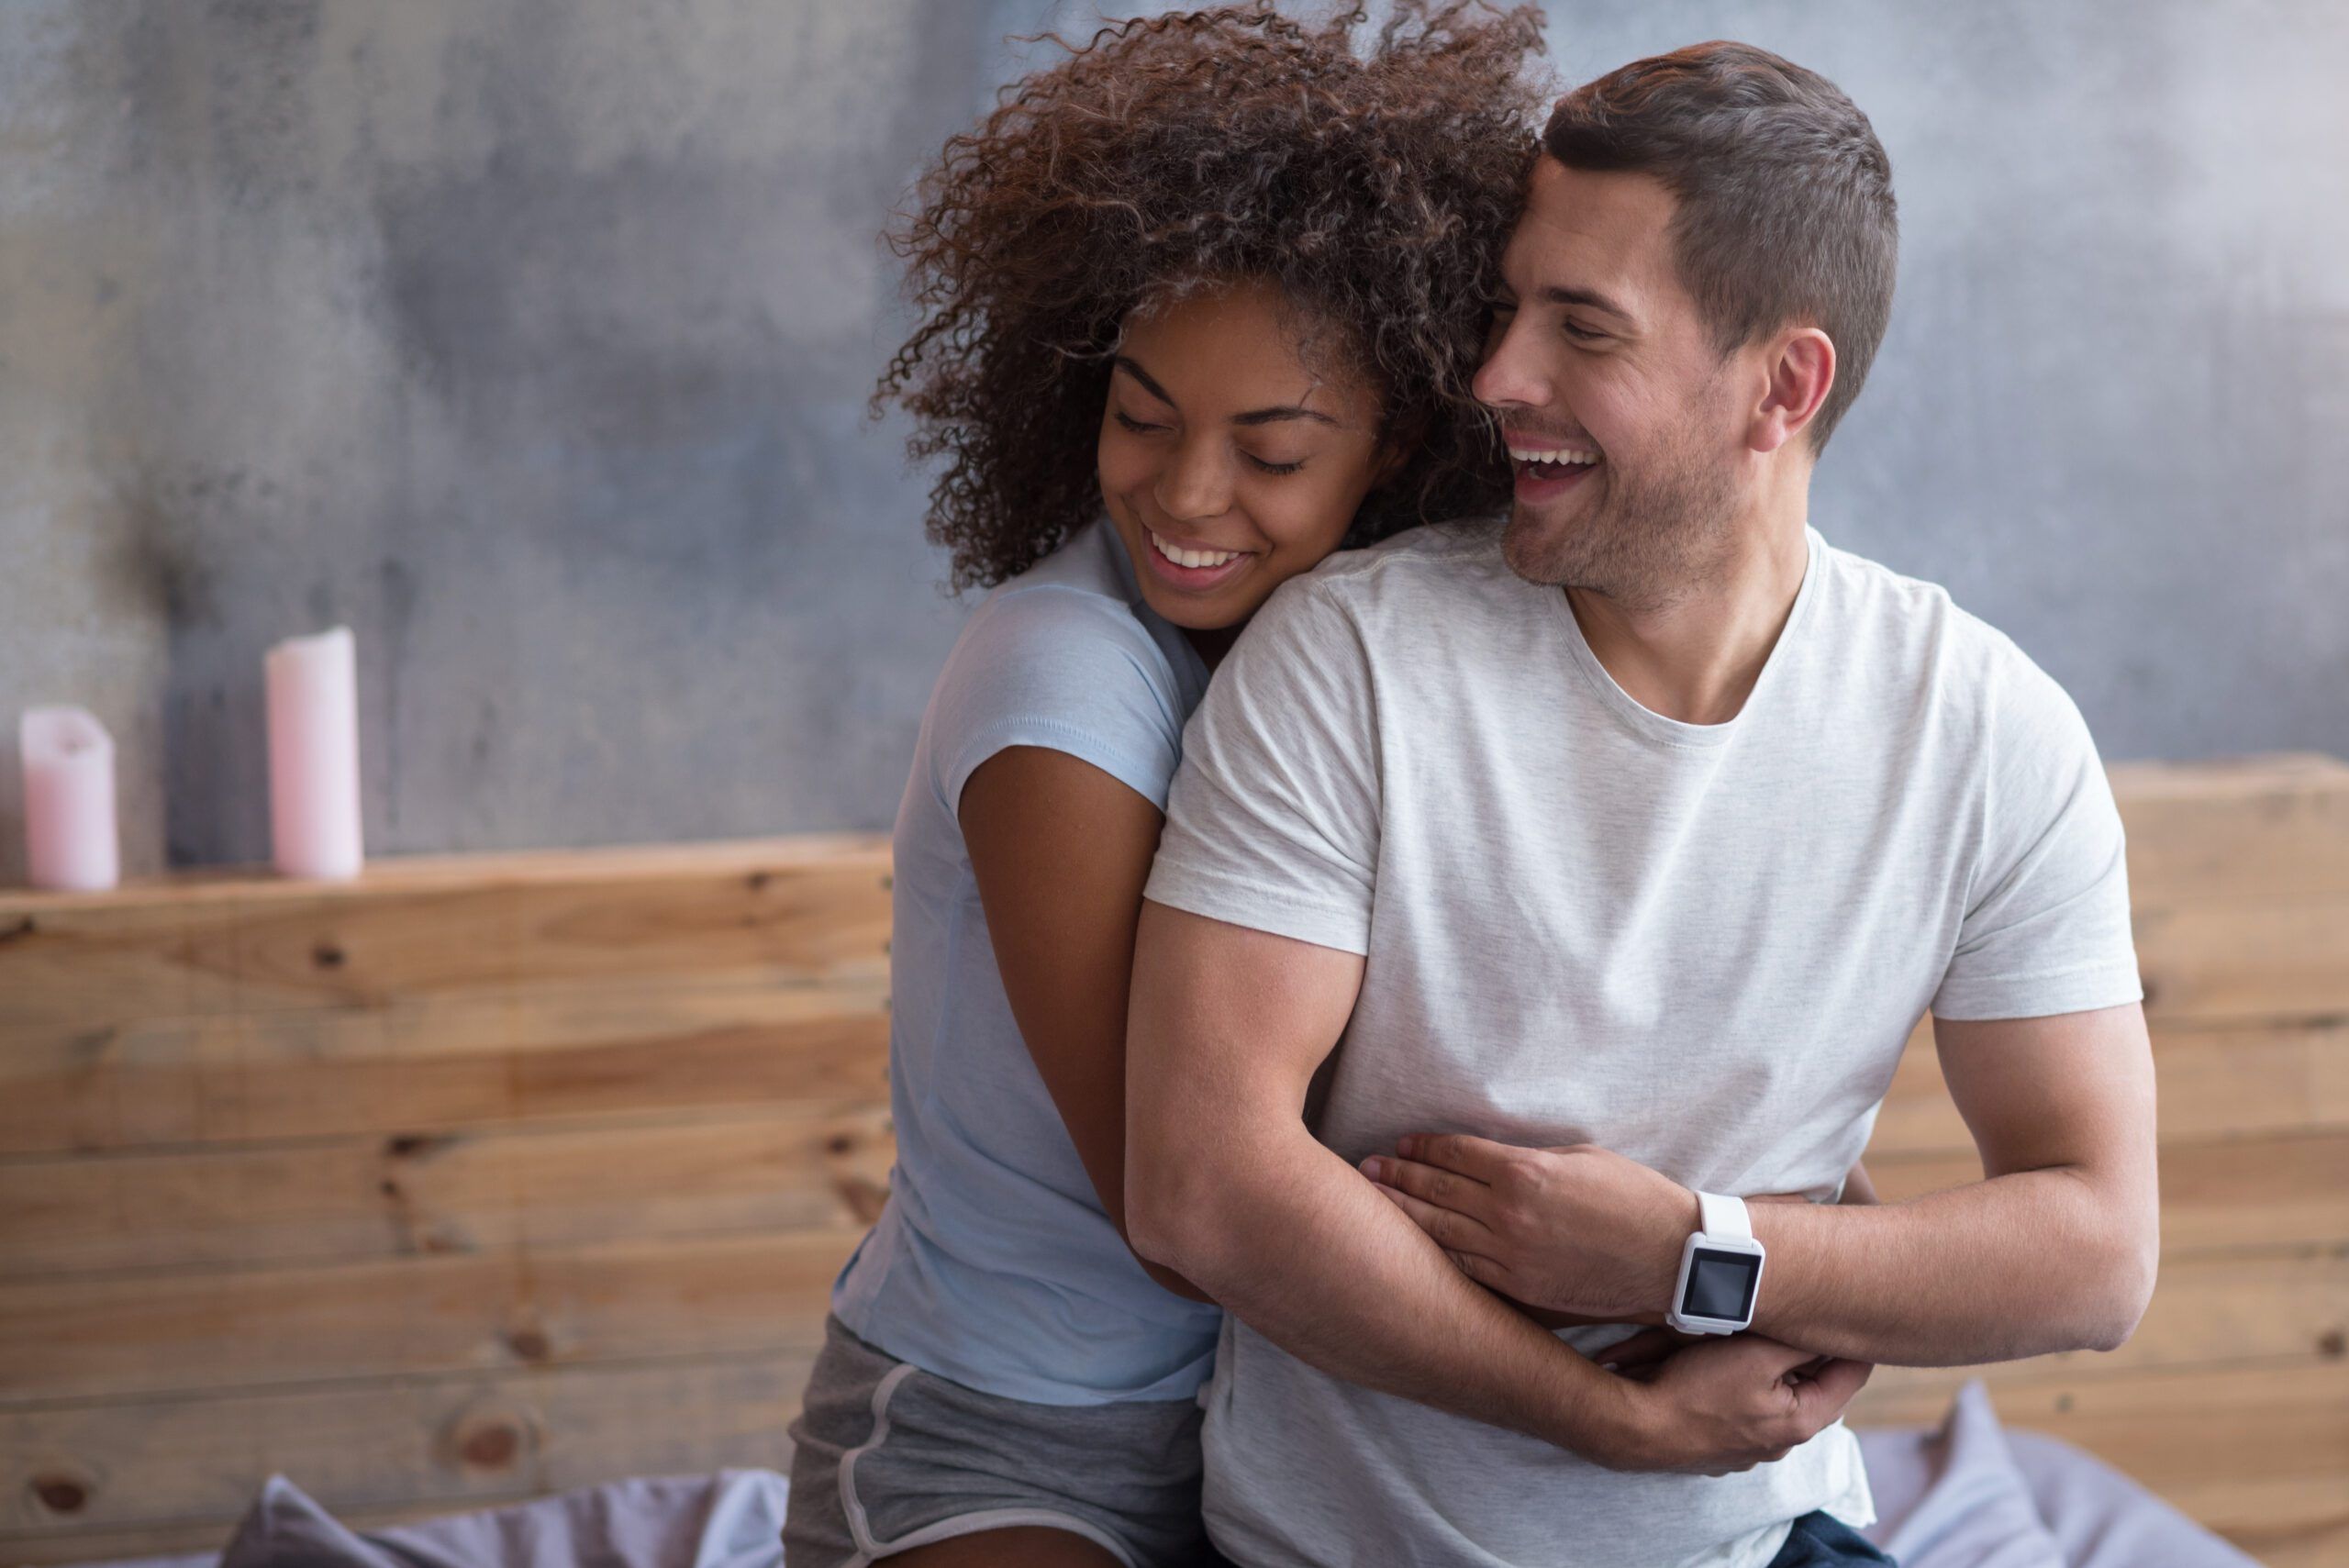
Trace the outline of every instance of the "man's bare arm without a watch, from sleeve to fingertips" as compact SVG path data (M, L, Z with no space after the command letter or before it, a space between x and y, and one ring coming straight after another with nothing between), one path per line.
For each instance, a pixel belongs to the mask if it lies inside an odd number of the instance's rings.
M1144 904L1125 1035L1137 1251L1320 1371L1618 1469L1741 1469L1835 1420L1865 1368L1788 1380L1806 1354L1757 1338L1644 1387L1454 1270L1304 1124L1360 984L1353 953Z

